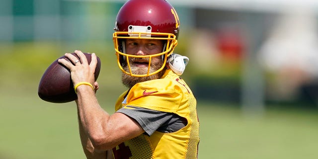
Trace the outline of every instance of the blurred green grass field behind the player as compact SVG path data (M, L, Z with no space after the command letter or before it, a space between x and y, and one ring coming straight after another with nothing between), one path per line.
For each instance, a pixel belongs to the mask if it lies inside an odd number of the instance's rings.
M49 103L37 95L46 67L64 54L41 46L19 44L0 55L0 159L84 159L75 103ZM124 87L113 53L100 58L97 97L113 113ZM254 116L239 106L198 100L199 159L317 159L318 112L274 108Z

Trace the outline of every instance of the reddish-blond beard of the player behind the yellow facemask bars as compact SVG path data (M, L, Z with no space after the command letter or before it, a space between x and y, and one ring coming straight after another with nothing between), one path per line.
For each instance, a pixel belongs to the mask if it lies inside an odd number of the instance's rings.
M155 65L151 65L150 73L153 73L159 70L162 65L163 65L163 61L160 61L159 63ZM128 66L125 66L124 70L126 72L129 72ZM144 82L144 81L153 80L153 79L160 79L162 75L164 74L165 70L166 68L164 67L159 73L152 76L147 76L147 77L133 77L123 73L121 76L121 80L126 87L131 88L139 82ZM131 71L133 74L136 74L136 75L144 75L144 74L147 74L148 68L139 68L139 67L131 66Z

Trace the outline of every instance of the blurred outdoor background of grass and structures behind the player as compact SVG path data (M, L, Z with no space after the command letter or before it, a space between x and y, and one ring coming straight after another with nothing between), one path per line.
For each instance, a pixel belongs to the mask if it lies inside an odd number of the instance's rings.
M85 158L76 104L41 100L38 84L64 53L96 53L96 95L113 113L125 1L0 0L0 159ZM190 59L199 159L317 159L318 1L168 1L181 24L175 53Z

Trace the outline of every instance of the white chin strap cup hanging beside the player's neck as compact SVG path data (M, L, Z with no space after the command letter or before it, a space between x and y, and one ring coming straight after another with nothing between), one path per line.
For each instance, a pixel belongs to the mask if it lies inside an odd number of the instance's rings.
M185 67L189 62L189 58L186 56L181 56L179 54L171 54L168 57L168 64L170 69L178 76L182 75Z

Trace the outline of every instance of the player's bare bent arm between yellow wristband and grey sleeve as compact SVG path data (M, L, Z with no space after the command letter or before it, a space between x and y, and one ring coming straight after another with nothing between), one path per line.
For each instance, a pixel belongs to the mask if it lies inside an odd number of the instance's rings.
M91 87L79 86L77 92L79 120L94 149L111 150L116 145L144 133L141 126L129 116L122 113L108 115L99 106ZM121 130L129 130L129 133Z

